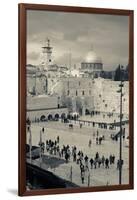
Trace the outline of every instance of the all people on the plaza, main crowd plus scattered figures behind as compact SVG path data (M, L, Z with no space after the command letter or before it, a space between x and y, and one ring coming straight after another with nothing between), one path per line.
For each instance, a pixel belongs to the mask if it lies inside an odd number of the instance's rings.
M104 116L105 117L105 116ZM62 120L64 123L68 123L68 119L64 118ZM30 120L27 121L28 127L30 126ZM96 122L92 122L92 126L95 127ZM98 128L103 129L115 129L115 125L112 124L110 126L107 126L106 123L97 123ZM69 128L73 129L74 124L70 124L69 122ZM82 129L84 125L84 122L79 123L79 128ZM44 128L42 128L42 132L44 132ZM125 133L125 129L123 131ZM124 135L124 134L123 134ZM116 137L117 136L117 137ZM125 135L124 135L125 136ZM92 144L93 141L95 141L96 145L101 145L102 142L105 140L105 136L101 135L99 133L99 130L93 131L92 134L93 138L90 138L89 141L87 141L87 145L89 149L91 149L92 153ZM116 140L118 139L117 135L111 135L112 139L113 137L116 137ZM89 154L85 154L82 150L79 150L76 145L70 146L69 144L61 146L60 144L60 137L57 136L55 140L48 139L45 141L39 142L39 146L41 147L41 153L44 154L45 152L49 153L50 155L57 156L59 158L62 158L65 160L66 163L68 162L74 162L76 165L79 166L80 169L80 177L82 184L85 183L85 177L86 172L89 173L91 170L97 170L100 168L109 169L112 165L116 164L116 169L119 169L122 167L124 161L117 160L115 158L114 154L110 154L109 156L100 155L99 152L96 152L94 155L89 156Z

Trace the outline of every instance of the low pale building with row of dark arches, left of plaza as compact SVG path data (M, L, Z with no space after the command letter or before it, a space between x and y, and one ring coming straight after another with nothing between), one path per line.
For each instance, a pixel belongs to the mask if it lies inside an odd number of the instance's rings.
M31 121L58 120L68 114L56 96L39 95L27 97L27 118Z

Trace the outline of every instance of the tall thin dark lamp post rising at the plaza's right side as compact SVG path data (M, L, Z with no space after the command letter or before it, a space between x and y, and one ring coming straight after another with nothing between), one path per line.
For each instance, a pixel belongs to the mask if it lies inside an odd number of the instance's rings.
M122 67L121 67L122 68ZM124 87L124 81L122 80L122 74L121 74L121 69L120 68L120 139L119 139L119 185L122 183L122 165L123 165L123 160L122 160L122 97L123 97L123 91L122 88Z

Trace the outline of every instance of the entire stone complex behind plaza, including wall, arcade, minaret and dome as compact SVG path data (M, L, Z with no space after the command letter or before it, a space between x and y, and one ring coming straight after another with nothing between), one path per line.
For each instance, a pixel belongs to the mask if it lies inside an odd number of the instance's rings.
M119 113L120 97L117 93L119 81L100 77L103 63L93 50L87 53L79 69L69 69L67 66L58 66L55 62L53 63L51 49L53 48L50 47L48 40L47 46L43 47L48 62L45 60L43 67L27 65L29 116L41 118L43 115L48 118L52 115L54 118L56 114L60 116L62 113L67 115L77 112L85 115L92 111ZM125 81L123 88L123 113L127 115L128 84L128 81ZM37 107L38 104L39 107Z

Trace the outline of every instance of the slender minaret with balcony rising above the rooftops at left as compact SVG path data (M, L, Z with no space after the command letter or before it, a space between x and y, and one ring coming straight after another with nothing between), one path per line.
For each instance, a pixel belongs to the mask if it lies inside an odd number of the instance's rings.
M47 38L46 45L42 47L42 53L43 53L43 62L44 69L48 68L48 65L52 63L51 54L52 54L53 47L50 46L50 40Z

